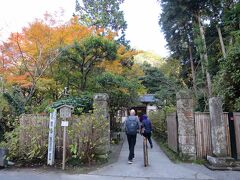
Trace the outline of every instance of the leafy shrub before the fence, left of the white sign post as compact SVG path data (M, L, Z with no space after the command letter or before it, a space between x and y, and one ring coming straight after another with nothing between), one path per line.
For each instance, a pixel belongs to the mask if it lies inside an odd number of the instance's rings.
M0 147L9 149L8 158L15 162L25 164L45 162L47 131L48 129L43 129L40 125L30 127L18 125L13 131L4 134L4 141L0 144ZM28 140L28 138L31 138L31 140Z

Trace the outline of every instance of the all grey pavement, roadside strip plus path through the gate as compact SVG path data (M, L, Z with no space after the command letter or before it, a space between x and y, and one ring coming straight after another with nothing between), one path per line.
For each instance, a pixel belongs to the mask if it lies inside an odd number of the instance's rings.
M148 167L143 166L142 137L138 136L133 164L127 163L128 145L125 140L116 163L89 174L69 175L62 172L40 172L32 169L0 170L0 180L240 180L240 172L210 171L201 165L174 164L153 142L149 149Z

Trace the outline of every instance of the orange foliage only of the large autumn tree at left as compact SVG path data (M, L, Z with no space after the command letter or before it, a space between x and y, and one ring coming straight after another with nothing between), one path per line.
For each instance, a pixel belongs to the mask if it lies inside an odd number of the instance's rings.
M66 24L54 26L56 21L49 14L44 20L35 20L21 33L12 33L0 49L0 73L8 74L6 80L20 86L30 86L60 54L59 47L69 45L93 33L72 18ZM28 76L26 76L28 74ZM31 82L31 83L29 83Z

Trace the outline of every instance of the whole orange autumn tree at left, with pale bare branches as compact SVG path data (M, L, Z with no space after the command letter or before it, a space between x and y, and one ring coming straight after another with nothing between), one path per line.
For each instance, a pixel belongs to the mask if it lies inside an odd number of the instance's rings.
M60 47L80 40L93 33L89 27L78 23L77 18L65 24L54 23L51 15L24 27L21 33L12 33L1 45L1 68L8 84L19 86L24 104L32 100L41 103L44 96L54 89L57 99L62 88L53 79L54 62L62 53ZM43 88L44 87L44 88ZM49 87L49 88L48 88ZM35 96L34 98L32 98ZM51 97L52 98L52 97Z

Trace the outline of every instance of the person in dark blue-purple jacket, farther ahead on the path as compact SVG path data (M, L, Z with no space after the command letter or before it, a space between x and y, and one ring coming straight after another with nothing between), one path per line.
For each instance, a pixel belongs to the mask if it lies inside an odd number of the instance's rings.
M153 148L152 139L151 139L151 136L152 136L152 123L148 119L146 114L144 114L142 116L142 118L143 118L143 120L142 120L142 125L141 125L141 134L148 139L148 142L149 142L151 148Z

